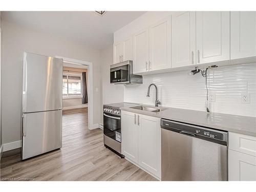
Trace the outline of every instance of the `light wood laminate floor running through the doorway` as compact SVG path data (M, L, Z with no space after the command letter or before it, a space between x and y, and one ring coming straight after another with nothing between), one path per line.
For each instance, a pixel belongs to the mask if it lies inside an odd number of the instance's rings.
M5 152L0 180L53 181L152 181L142 169L108 150L102 130L88 129L88 113L80 110L63 115L62 147L20 161L20 150Z

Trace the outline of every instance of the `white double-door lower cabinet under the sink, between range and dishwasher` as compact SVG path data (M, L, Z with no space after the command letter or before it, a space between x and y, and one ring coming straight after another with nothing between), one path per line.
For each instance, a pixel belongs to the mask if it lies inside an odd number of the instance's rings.
M160 179L160 118L122 111L121 123L122 154Z

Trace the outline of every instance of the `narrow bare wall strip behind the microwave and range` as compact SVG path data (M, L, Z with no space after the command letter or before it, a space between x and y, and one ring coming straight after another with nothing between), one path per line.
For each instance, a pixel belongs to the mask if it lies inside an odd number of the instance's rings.
M110 65L113 64L113 45L101 50L101 123L103 123L102 104L123 102L123 85L110 84Z

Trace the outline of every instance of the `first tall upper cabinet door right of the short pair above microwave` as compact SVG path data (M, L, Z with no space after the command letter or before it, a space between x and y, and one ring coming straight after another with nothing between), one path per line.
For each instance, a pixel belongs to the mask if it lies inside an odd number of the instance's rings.
M148 70L148 28L134 35L134 73Z

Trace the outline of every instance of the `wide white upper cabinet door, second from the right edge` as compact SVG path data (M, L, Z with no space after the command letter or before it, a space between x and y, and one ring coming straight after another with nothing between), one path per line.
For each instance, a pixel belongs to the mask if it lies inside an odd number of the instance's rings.
M197 63L230 59L230 12L196 12Z

